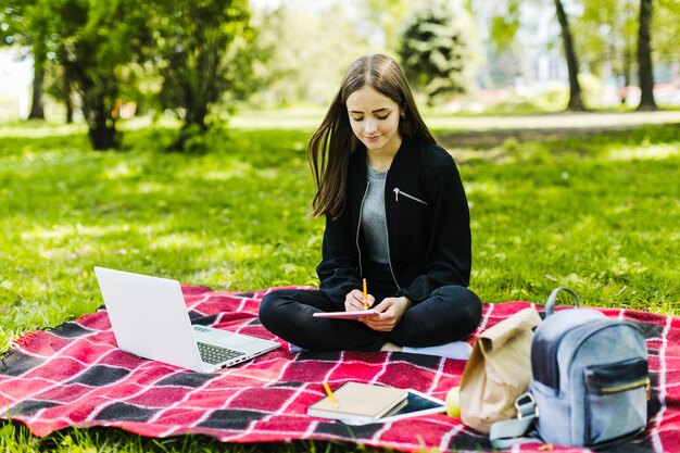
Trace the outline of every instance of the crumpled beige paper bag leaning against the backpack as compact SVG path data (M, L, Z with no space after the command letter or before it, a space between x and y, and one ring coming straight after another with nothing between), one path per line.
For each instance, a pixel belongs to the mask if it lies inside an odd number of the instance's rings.
M461 380L461 419L488 433L493 421L515 418L515 399L529 389L531 340L541 317L525 309L475 340Z

